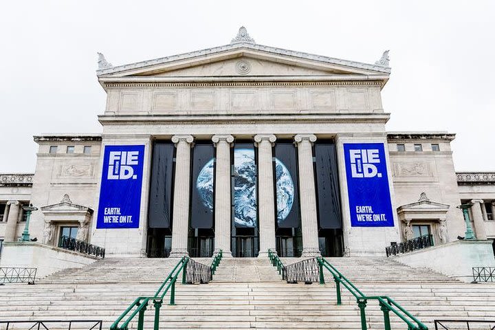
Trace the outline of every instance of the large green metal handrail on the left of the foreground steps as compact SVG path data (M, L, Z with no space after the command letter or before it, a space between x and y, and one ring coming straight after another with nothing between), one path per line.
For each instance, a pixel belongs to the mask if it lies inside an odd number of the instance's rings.
M135 318L137 314L137 330L142 330L144 327L144 312L148 304L153 301L155 307L155 323L154 330L159 329L159 309L162 307L163 299L166 296L168 290L170 289L170 303L168 305L175 305L175 282L180 272L182 272L182 284L186 284L186 266L188 264L189 258L183 256L180 261L175 265L173 270L168 274L165 281L160 285L155 296L153 297L138 297L134 302L127 307L127 309L122 313L121 316L113 322L110 329L111 330L127 330L129 329L129 322ZM127 317L127 318L126 318ZM126 320L119 326L119 323L126 318Z

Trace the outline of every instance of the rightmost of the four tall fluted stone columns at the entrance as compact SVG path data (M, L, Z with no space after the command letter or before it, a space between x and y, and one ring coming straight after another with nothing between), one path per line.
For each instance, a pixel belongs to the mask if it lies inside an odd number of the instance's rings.
M318 244L318 215L316 212L316 189L312 144L313 134L298 134L294 137L298 147L299 201L301 228L303 229L303 258L320 256Z

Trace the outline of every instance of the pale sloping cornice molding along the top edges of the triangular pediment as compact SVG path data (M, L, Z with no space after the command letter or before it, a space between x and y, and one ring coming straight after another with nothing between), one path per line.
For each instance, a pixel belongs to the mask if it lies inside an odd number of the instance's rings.
M228 52L230 50L237 50L237 49L256 50L256 51L267 52L267 53L272 53L272 54L277 54L277 55L282 55L282 56L291 56L294 58L303 58L305 60L317 61L320 63L342 65L342 66L347 66L347 67L353 67L356 69L371 70L371 71L375 71L375 72L381 72L384 74L390 74L391 73L391 68L390 67L384 67L383 65L376 65L376 64L373 65L373 64L360 63L360 62L355 62L355 61L347 61L347 60L342 60L340 58L332 58L332 57L328 57L328 56L308 54L305 52L296 52L293 50L285 50L283 48L258 45L256 43L251 43L248 41L239 41L236 43L230 43L230 45L223 45L223 46L219 46L219 47L206 48L204 50L197 50L195 52L188 52L188 53L177 54L177 55L173 55L173 56L155 58L155 59L149 60L149 61L142 61L142 62L131 63L131 64L127 64L127 65L120 65L120 66L116 66L116 67L98 69L96 71L96 74L97 74L97 76L103 76L104 74L115 74L118 72L125 72L125 71L131 70L131 69L141 69L144 67L150 67L152 65L171 63L171 62L186 60L186 59L190 59L190 58L196 58L196 57L202 57L203 58L204 56L207 56L207 55L217 54L220 52Z

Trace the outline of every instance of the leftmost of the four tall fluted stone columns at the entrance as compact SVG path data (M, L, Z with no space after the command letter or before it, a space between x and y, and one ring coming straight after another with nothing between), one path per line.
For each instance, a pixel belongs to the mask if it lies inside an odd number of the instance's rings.
M172 137L177 153L175 154L171 258L188 255L190 147L192 140L192 135L174 135Z

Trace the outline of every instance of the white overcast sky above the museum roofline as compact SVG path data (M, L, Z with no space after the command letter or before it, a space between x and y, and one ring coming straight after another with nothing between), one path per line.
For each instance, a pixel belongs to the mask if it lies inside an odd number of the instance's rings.
M375 63L388 131L456 133L456 170L495 171L495 1L8 1L0 12L0 173L32 173L40 133L100 132L96 52L113 65L225 45Z

